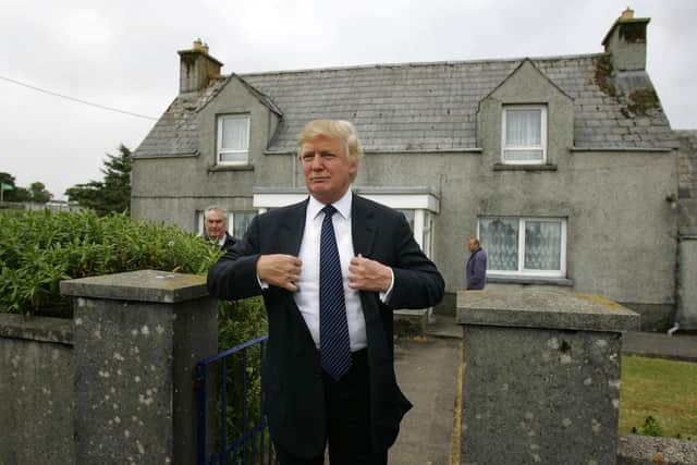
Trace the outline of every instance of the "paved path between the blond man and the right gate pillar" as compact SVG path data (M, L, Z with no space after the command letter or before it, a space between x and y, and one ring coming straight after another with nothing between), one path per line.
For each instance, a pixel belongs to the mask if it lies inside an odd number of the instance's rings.
M449 465L462 340L427 336L394 345L396 378L414 408L390 449L390 465Z

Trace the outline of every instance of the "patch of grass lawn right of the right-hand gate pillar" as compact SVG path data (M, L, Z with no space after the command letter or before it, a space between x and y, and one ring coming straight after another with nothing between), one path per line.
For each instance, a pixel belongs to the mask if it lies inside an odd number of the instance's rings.
M631 433L652 416L662 436L697 440L697 364L622 357L620 432Z

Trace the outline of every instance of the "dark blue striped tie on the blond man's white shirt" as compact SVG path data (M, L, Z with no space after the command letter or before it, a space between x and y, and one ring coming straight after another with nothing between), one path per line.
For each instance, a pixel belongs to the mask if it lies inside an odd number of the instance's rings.
M325 219L319 242L319 352L321 367L338 381L351 368L351 342L341 261L331 220L337 209L328 205L322 211Z

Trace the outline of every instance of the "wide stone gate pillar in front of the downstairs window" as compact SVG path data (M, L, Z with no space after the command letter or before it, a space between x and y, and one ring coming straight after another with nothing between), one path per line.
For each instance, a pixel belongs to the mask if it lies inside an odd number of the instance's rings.
M549 287L462 291L462 464L615 464L622 331L639 316Z

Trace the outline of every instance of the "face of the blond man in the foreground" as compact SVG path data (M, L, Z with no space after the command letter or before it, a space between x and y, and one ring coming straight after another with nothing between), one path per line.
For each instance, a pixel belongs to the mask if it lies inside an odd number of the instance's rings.
M333 204L348 189L358 160L348 157L343 140L319 136L301 147L305 184L313 197Z

